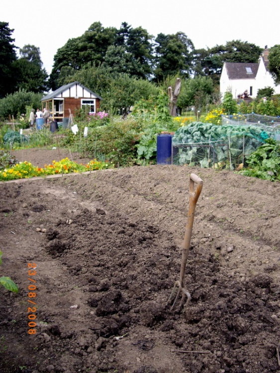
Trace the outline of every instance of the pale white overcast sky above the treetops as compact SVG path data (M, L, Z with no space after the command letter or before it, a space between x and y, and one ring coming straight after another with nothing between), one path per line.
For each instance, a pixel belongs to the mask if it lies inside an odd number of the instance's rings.
M184 32L196 49L241 40L261 48L280 44L279 0L8 0L0 21L14 29L14 45L40 48L51 73L57 50L93 22L120 28L127 22L155 37Z

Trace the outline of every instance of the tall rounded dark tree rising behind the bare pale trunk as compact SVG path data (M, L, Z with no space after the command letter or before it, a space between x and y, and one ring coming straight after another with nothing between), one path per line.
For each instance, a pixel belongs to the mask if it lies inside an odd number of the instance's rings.
M183 32L173 35L158 34L155 39L154 80L163 81L168 75L189 76L192 65L192 41Z

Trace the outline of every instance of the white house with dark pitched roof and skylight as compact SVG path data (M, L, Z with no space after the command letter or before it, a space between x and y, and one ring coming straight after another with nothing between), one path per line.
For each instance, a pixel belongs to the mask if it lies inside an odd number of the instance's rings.
M280 85L276 86L268 70L269 49L265 48L258 63L225 62L220 78L220 93L223 97L231 92L234 98L247 91L254 98L258 90L272 87L275 93L280 93Z

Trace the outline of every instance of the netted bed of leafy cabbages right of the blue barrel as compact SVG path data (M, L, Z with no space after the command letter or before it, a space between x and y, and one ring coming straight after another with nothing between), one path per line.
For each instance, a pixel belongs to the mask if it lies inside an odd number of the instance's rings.
M173 136L173 164L234 170L269 137L256 125L192 122Z

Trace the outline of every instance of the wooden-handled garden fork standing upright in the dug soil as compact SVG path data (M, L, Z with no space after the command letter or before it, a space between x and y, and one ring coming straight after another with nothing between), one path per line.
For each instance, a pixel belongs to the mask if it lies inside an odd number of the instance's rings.
M195 183L197 184L196 190L194 189L194 184ZM195 174L190 174L190 178L189 178L189 208L188 208L188 213L187 213L187 225L186 225L185 237L184 237L184 242L183 242L183 253L182 253L180 278L179 278L178 281L175 282L172 293L171 293L171 295L168 299L168 302L171 302L177 286L179 287L179 289L178 289L178 292L176 294L173 305L171 307L171 310L175 307L181 292L182 292L182 299L181 299L181 302L180 302L180 307L182 307L186 295L187 295L187 305L190 302L190 294L187 291L187 289L185 288L185 270L186 270L187 258L188 258L188 253L189 253L190 238L191 238L191 232L192 232L192 226L193 226L195 206L196 206L196 202L198 200L198 197L201 193L202 186L203 186L203 181L198 176L196 176Z

